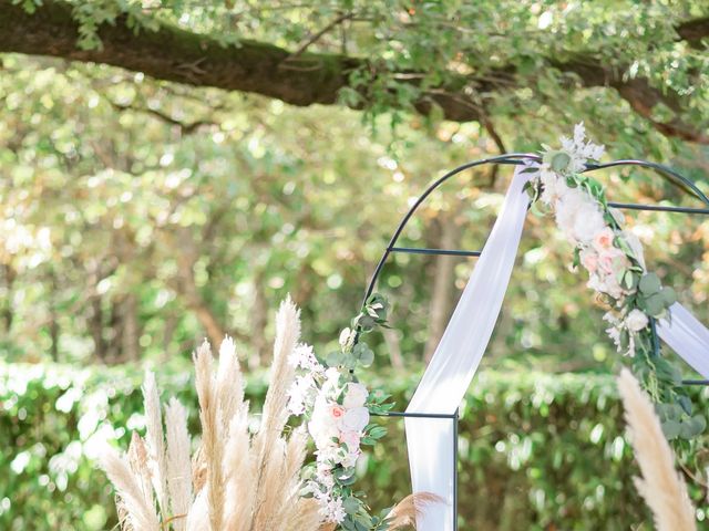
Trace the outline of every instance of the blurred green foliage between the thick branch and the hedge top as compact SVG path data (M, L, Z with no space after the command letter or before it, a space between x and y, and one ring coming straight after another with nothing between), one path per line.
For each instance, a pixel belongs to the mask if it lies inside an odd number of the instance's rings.
M446 169L497 153L475 123L412 117L392 131L382 115L372 129L339 107L294 108L106 66L2 61L6 360L187 358L205 335L214 343L229 333L256 367L269 356L261 333L268 309L288 292L302 308L309 341L333 343L411 201ZM528 150L586 118L610 157L670 164L708 190L699 147L651 132L638 136L637 117L620 107L615 122L568 112L551 123L502 116L496 126L508 150ZM630 133L612 131L614 124ZM479 249L508 174L476 168L452 179L418 211L401 244ZM612 200L697 206L647 173L607 171L599 179ZM709 223L628 215L649 268L709 321ZM571 261L553 220L531 215L491 363L516 353L524 365L568 371L616 360L600 331L603 310L584 275L568 271ZM474 262L392 257L379 291L392 302L395 330L372 345L377 366L418 366Z

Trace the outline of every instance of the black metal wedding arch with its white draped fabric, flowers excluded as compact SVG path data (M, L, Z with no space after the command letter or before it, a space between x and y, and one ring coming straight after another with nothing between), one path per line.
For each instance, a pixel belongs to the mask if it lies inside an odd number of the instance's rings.
M590 143L585 144L583 142L584 129L580 124L575 132L575 139L578 140L579 137L580 142L576 143L576 147L588 147L590 152L587 154L593 152L593 147L600 147L600 152L603 150L602 146L594 146ZM569 145L574 143L574 140L571 139L567 139L567 142L571 143ZM605 196L602 196L603 189L596 195L598 195L602 202L604 202L605 207L610 209L610 211L648 210L676 212L680 215L709 215L709 198L690 179L675 171L672 168L662 164L639 159L623 159L604 164L587 160L597 158L599 157L580 156L577 160L573 160L571 158L567 159L564 150L554 152L551 148L546 148L546 154L543 155L512 153L461 165L438 178L423 191L397 226L381 259L377 263L366 290L362 309L371 304L377 281L387 260L393 253L480 258L409 406L404 412L389 410L379 413L380 416L399 417L405 421L413 491L434 492L446 501L446 503L427 508L425 513L418 522L418 529L420 530L458 530L458 407L484 354L502 305L510 273L514 264L522 226L531 204L530 198L524 191L530 188L534 189L534 186L528 184L530 175L534 173L538 174L540 168L543 168L544 165L551 170L555 170L562 177L567 175L565 173L565 168L567 167L569 168L569 173L582 176L607 168L624 166L649 169L702 202L703 207L606 202ZM577 164L577 167L572 168L573 164ZM452 177L467 169L484 165L513 166L515 167L515 176L510 185L495 226L483 249L430 249L401 247L398 244L399 238L409 221L434 190L439 189ZM548 188L553 185L552 183L546 183L546 185L548 194ZM569 187L574 185L578 185L578 183L568 181ZM566 183L562 183L561 186L566 187ZM593 190L594 186L596 185L593 183L587 185L588 190L595 194ZM541 188L544 188L544 184L542 184ZM534 194L535 197L533 197L532 200L537 198L536 196L540 194L540 188L536 188ZM559 222L558 219L557 222ZM613 239L610 244L613 244ZM628 249L628 256L637 258L643 262L643 269L645 269L644 261L641 257L637 257L637 249ZM641 256L641 248L639 249L639 253ZM578 254L576 256L575 262L579 262ZM643 277L648 277L648 279L643 280ZM640 282L644 282L645 285L638 287L638 279ZM631 277L630 280L621 278L619 284L626 281L627 285L638 293L643 293L644 288L646 289L647 292L645 295L638 295L641 308L645 309L646 306L644 304L648 304L650 299L650 305L662 305L659 308L659 311L655 311L655 309L648 310L648 320L645 322L651 345L651 356L656 356L658 363L662 360L660 352L660 339L662 339L705 378L681 379L677 381L676 384L678 386L709 385L709 331L684 309L684 306L675 302L674 291L671 289L662 289L659 284L657 287L655 285L655 283L659 281L654 273L645 274L644 271L640 271L636 274L635 279ZM625 284L620 285L620 289L624 289L624 287ZM608 291L610 290L606 289L605 293ZM662 292L665 292L664 295ZM655 316L655 314L660 313L662 315L667 314L667 319L658 319ZM669 315L671 315L671 320ZM614 336L612 332L612 330L615 330L614 326L623 327L626 325L612 322L612 327L608 329L612 337ZM628 348L627 332L626 329L626 343L623 343L624 339L620 332L614 337L619 348L620 344L625 345L624 348ZM354 343L357 343L357 341L358 337L356 336ZM633 332L630 332L629 341L633 342ZM633 346L629 348L633 348ZM701 352L705 352L706 355L701 356ZM372 413L378 415L374 412ZM675 424L671 425L672 429L675 428ZM689 426L689 430L693 429L689 421L686 426ZM703 430L703 425L699 426L698 430ZM695 428L697 428L697 426L695 426Z

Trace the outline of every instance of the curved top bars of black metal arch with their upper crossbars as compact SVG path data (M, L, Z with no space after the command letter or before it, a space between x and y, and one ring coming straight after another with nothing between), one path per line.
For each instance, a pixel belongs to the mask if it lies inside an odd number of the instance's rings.
M417 201L409 208L407 214L403 216L394 233L389 240L389 244L387 249L382 253L379 262L377 263L377 268L372 273L372 277L367 287L367 291L364 293L364 299L362 301L362 308L367 303L367 300L371 296L374 291L374 285L379 280L379 275L387 262L387 259L392 252L409 252L409 253L421 253L421 254L449 254L449 256L463 256L463 257L479 257L481 251L460 251L460 250L450 250L450 249L417 249L417 248L401 248L395 247L401 232L405 228L407 223L411 220L415 211L419 207L427 200L427 198L441 185L443 185L451 177L456 176L465 171L466 169L471 169L477 166L484 166L489 164L499 164L499 165L512 165L520 166L526 164L528 162L532 163L541 163L542 157L538 155L532 155L527 153L508 153L504 155L500 155L491 158L483 158L480 160L473 160L470 163L465 163L443 176L439 177L434 180L429 187L423 191L423 194L417 199ZM698 215L709 215L709 197L707 197L691 179L682 176L681 174L675 171L669 166L665 166L658 163L650 163L648 160L639 160L639 159L621 159L621 160L613 160L610 163L605 164L587 164L586 169L583 173L596 171L599 169L613 168L618 166L638 166L641 168L648 168L667 179L670 184L677 186L682 191L693 196L703 202L708 208L690 208L690 207L667 207L660 205L636 205L636 204L623 204L623 202L608 202L609 206L623 209L631 209L631 210L653 210L653 211L670 211L670 212L681 212L681 214L698 214Z

